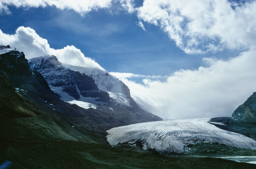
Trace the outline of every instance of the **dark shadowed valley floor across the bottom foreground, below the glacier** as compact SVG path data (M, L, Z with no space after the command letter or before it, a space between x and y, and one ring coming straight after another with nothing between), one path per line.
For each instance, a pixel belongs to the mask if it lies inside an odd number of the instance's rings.
M7 168L253 168L255 164L191 155L163 156L129 146L71 140L0 139L0 167ZM3 167L2 167L3 168Z

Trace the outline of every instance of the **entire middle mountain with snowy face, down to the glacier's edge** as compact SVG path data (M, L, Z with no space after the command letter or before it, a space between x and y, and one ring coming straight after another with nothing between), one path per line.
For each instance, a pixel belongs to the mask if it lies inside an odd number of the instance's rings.
M158 116L140 109L131 98L129 88L106 71L65 65L53 55L32 58L29 65L32 70L37 70L44 76L53 92L71 104L83 108L90 106L113 114L113 117L121 119L124 124L161 120ZM83 95L96 91L97 85L94 82L106 91L98 90L98 95Z

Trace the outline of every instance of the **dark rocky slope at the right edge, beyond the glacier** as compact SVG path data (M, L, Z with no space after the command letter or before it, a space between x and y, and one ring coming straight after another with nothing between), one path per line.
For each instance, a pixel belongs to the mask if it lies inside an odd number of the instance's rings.
M231 118L243 122L256 121L256 92L233 112Z

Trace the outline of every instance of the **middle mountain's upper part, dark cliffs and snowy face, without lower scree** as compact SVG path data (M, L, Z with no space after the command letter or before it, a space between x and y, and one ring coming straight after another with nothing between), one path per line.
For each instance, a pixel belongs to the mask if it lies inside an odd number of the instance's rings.
M103 69L63 64L53 55L29 59L29 65L32 70L44 76L62 100L73 101L75 98L94 104L106 104L111 99L114 104L137 107L129 88Z

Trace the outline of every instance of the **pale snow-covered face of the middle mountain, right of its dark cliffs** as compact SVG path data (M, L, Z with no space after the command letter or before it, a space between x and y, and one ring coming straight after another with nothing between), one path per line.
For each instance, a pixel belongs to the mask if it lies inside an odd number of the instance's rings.
M102 91L108 92L115 103L130 106L131 100L126 98L127 96L130 97L129 88L121 80L109 74L107 71L98 68L72 66L63 63L62 66L66 69L78 71L81 74L84 73L92 77L98 88Z

